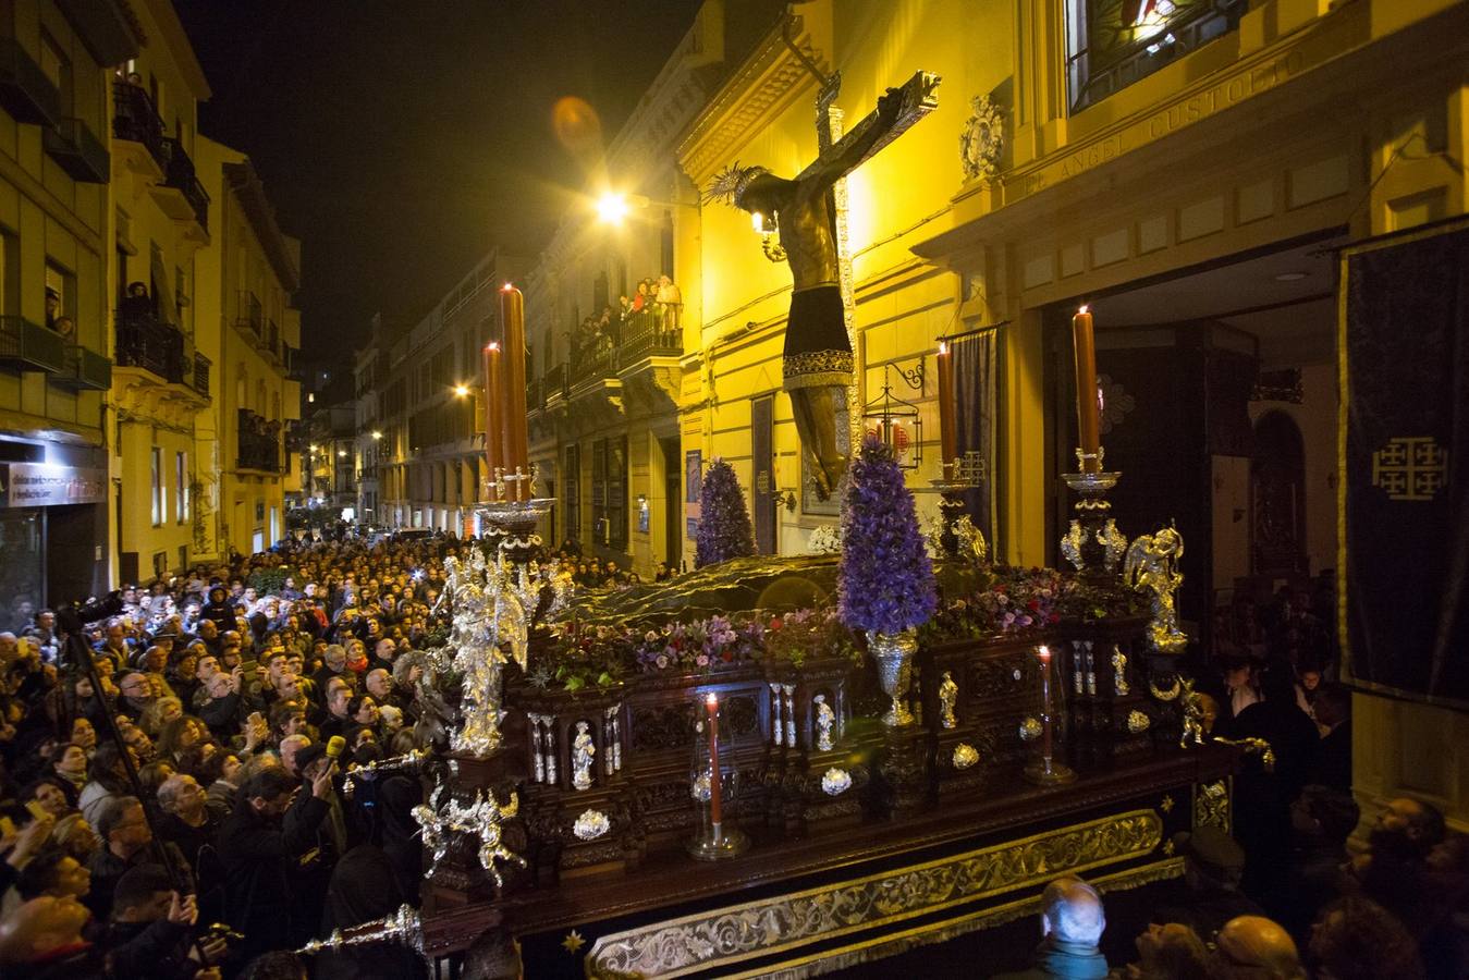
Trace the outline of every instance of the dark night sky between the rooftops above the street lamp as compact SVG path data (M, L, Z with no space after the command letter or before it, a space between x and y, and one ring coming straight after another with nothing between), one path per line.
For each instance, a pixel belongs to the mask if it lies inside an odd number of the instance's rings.
M301 342L341 367L369 320L422 317L491 247L535 254L699 0L175 0L213 97L204 135L254 160L301 238Z

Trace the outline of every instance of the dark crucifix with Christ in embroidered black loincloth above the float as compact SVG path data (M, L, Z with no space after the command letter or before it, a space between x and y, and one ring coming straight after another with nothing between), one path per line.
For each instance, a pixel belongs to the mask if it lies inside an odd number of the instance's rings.
M846 175L937 107L939 76L917 72L902 88L889 88L877 109L842 135L833 107L842 76L826 79L817 98L820 156L795 178L739 163L715 175L705 200L724 200L749 212L757 228L779 234L768 250L790 266L795 289L782 353L801 450L811 463L815 491L826 500L846 470L851 444L837 439L837 416L861 403L853 388L852 269L846 245Z

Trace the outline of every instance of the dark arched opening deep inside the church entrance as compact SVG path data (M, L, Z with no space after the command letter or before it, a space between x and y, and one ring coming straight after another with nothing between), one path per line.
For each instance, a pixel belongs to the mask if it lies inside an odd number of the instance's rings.
M1306 572L1306 441L1284 411L1268 411L1255 423L1250 511L1252 572Z

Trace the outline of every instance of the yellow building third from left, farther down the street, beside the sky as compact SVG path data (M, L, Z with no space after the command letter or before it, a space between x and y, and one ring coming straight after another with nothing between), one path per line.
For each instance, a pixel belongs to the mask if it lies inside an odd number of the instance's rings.
M213 242L198 253L195 303L213 320L198 350L214 364L213 406L195 426L200 558L269 548L285 533L285 430L301 417L291 378L301 348L301 242L281 231L250 159L200 137Z

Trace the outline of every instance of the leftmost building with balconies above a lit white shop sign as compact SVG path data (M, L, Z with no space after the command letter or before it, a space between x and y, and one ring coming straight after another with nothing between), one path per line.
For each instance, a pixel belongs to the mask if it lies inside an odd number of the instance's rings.
M109 66L140 44L118 3L0 9L3 629L107 585Z

